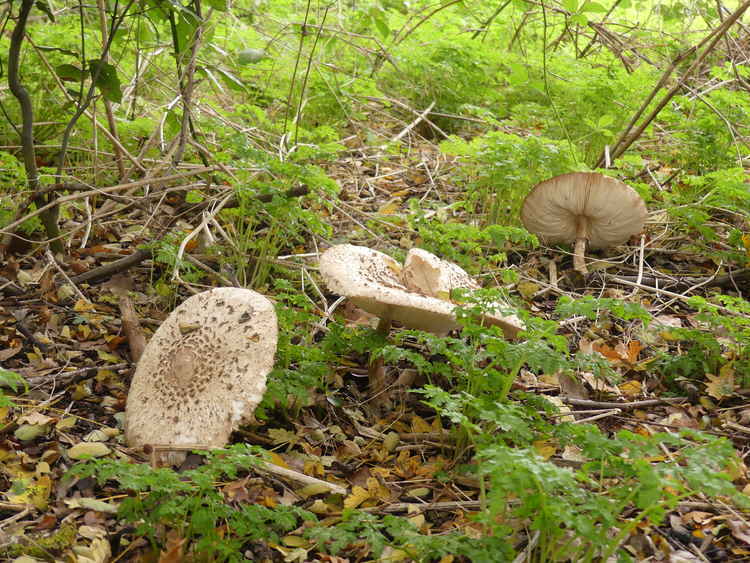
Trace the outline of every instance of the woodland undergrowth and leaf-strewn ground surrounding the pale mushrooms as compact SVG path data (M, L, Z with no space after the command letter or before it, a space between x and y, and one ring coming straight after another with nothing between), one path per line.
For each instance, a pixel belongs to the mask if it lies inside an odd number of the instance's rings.
M0 559L750 558L749 6L6 4ZM584 278L519 211L587 170L649 213ZM386 338L322 283L336 243L484 289ZM148 337L218 286L276 303L265 399L154 467L124 311Z

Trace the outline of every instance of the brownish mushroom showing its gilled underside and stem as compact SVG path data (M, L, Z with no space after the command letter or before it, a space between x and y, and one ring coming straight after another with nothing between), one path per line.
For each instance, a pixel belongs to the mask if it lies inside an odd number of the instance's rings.
M521 220L546 243L575 243L573 266L587 274L584 253L622 244L643 229L646 204L630 186L596 172L572 172L537 184Z

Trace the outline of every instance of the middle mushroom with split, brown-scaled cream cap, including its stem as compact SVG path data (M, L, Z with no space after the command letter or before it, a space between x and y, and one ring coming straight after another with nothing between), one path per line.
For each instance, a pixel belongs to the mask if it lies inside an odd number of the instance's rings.
M461 268L424 250L410 251L402 268L377 250L340 244L321 255L320 273L328 289L377 315L376 330L383 336L391 321L439 335L457 328L456 304L448 300L451 290L479 287ZM509 338L524 329L515 316L487 314L484 318L500 325ZM371 391L382 393L386 387L382 360L370 364L368 376Z

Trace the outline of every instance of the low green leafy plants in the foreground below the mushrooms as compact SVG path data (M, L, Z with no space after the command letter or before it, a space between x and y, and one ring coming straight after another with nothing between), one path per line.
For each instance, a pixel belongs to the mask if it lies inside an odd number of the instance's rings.
M265 455L260 448L242 444L204 453L203 465L181 473L116 460L74 466L76 477L95 477L101 485L130 491L118 516L157 548L166 545L165 530L172 529L188 540L189 552L216 561L252 558L247 554L265 542L342 557L358 553L364 559L436 561L453 555L489 563L511 561L514 546L528 533L535 537L535 561L596 561L609 556L632 561L622 542L637 527L660 525L681 500L700 493L740 507L750 505L732 484L741 462L725 438L694 430L607 433L590 424L567 422L544 396L514 391L521 369L571 376L585 370L610 383L617 382L617 376L601 357L572 353L553 320L521 312L527 329L518 341L482 326L480 312L510 310L513 304L507 295L485 290L456 296L465 301L458 334L437 337L402 330L385 339L374 329L347 328L338 322L329 323L322 337L311 333L317 317L307 298L287 282L277 282L276 289L282 337L259 418L282 405L288 420L295 419L302 403L294 397L304 399L315 388L330 404L344 404L345 388L327 375L347 357L370 353L387 365L415 369L422 384L412 390L414 398L450 433L455 465L439 478L460 475L478 483L481 509L469 522L481 533L467 535L457 529L433 534L407 517L347 509L344 497L335 494L318 494L317 500L327 507L325 517L308 510L312 498L294 506L238 501L227 484L245 482L248 468ZM721 302L748 312L747 302ZM739 343L750 338L744 320L728 322L708 302L692 305L702 311L707 328L721 322L738 343L716 350L715 359L734 354L730 361L739 366L744 353ZM637 303L591 297L561 300L556 315L610 323L610 330L634 324L649 329L652 322ZM695 338L694 333L675 334ZM695 345L702 349L700 342ZM320 407L308 408L314 413ZM322 454L334 455L336 444L327 448L330 451ZM554 452L565 452L573 462L560 465L551 458Z

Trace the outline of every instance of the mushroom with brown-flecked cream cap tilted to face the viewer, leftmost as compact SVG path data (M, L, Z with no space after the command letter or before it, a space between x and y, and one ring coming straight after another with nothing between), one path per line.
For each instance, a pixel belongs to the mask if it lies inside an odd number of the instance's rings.
M273 304L223 287L185 300L154 333L138 362L125 408L132 447L223 447L263 398L276 352ZM177 464L169 452L162 463Z

